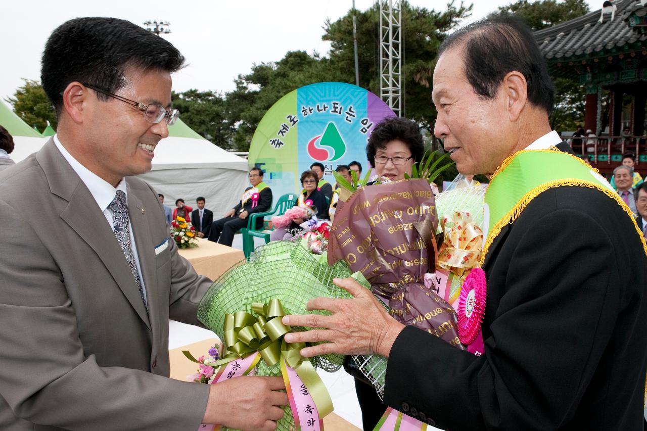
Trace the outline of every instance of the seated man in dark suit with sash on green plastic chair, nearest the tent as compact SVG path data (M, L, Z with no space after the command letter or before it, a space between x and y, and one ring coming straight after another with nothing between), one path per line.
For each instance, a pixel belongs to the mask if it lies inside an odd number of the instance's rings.
M266 212L272 206L272 190L263 182L263 170L252 168L249 171L249 182L252 184L243 192L239 203L225 214L225 217L214 221L209 232L209 241L232 247L234 235L241 228L247 227L247 217L255 212ZM256 221L256 228L263 226L263 218Z

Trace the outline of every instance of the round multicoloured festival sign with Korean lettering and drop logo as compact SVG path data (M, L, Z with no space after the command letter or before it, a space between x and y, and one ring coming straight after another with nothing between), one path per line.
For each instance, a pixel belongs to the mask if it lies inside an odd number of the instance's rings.
M375 124L395 116L378 96L356 85L322 82L286 94L265 113L249 148L249 168L263 170L276 201L302 190L301 173L314 162L334 184L333 171L356 160L369 169L366 142Z

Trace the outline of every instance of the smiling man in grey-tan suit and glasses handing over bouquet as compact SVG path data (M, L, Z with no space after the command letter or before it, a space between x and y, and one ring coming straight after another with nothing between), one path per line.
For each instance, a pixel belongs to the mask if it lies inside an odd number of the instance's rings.
M72 19L43 53L58 134L0 173L0 429L273 430L278 377L168 378L168 319L210 280L169 240L150 170L184 58L127 21Z

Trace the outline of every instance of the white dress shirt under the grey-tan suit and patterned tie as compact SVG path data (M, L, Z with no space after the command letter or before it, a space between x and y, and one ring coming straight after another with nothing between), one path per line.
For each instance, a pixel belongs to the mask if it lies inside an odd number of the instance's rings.
M83 166L74 159L72 155L63 147L61 141L58 139L58 135L54 135L54 144L58 151L61 151L65 160L72 166L76 175L81 178L83 184L90 190L92 197L96 201L96 204L99 206L101 212L104 213L105 221L107 221L109 227L114 232L113 227L113 210L108 208L108 205L115 199L117 190L121 190L126 194L126 205L128 204L128 192L126 190L126 181L122 180L117 184L116 188L112 186L109 182L98 177L95 173L91 172L88 168ZM142 268L139 263L139 255L137 254L137 245L135 245L135 236L133 234L133 225L130 223L130 217L128 220L128 230L130 232L130 247L133 249L133 255L135 256L135 265L137 265L137 272L139 273L139 279L142 282L142 291L144 292L144 297L146 297L146 286L144 285L144 277L142 276ZM115 236L116 241L116 236ZM126 259L126 256L124 256Z

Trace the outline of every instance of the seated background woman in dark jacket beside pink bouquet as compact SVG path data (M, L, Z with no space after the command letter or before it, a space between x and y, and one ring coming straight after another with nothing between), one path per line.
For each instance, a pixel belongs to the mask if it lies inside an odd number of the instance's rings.
M292 238L302 230L299 225L312 216L316 216L318 220L328 218L328 204L325 195L317 190L318 181L317 174L314 171L303 171L301 174L303 193L296 199L294 206L303 208L308 216L303 219L293 219L288 227L274 229L270 234L270 240L280 241L281 239Z

